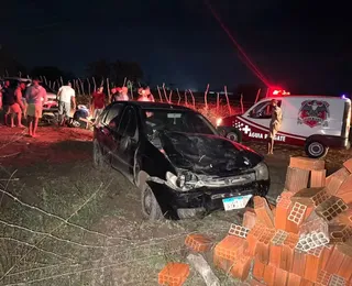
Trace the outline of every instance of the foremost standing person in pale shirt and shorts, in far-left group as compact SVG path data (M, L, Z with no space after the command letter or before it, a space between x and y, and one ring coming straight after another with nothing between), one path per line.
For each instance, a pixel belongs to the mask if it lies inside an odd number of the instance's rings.
M29 121L29 135L36 136L36 129L40 118L42 118L43 103L46 101L46 90L40 86L40 79L34 78L33 85L30 86L25 92L25 99L29 103L28 107L28 121Z

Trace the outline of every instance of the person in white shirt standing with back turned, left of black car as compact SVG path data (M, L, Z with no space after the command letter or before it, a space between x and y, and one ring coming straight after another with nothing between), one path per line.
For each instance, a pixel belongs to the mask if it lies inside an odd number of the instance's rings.
M74 110L76 110L76 94L72 88L72 84L68 81L66 86L62 86L57 94L58 100L58 121L59 125L64 125L66 120L70 116L70 102L73 102Z

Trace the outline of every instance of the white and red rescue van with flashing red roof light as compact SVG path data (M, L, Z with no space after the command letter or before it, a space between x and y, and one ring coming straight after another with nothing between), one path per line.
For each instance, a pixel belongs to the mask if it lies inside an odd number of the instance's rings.
M266 141L275 98L283 111L283 122L275 141L305 146L310 157L322 157L329 147L349 148L351 100L324 96L279 96L265 98L244 114L218 120L218 130L228 139Z

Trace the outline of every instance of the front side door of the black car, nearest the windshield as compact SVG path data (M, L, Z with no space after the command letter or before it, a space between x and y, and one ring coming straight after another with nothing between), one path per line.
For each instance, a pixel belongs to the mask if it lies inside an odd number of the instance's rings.
M114 133L112 166L128 176L131 175L138 144L138 113L133 107L127 107L122 112Z

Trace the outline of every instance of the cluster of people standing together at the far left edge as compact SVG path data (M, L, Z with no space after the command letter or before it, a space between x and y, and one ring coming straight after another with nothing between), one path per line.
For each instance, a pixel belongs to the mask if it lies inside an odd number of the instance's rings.
M34 78L30 87L26 87L25 82L15 82L13 85L6 80L0 90L0 109L3 110L3 122L6 125L14 128L14 118L16 117L16 125L25 128L22 124L22 119L24 118L28 123L29 135L36 136L43 103L46 101L46 90L40 85L38 78ZM23 95L24 90L25 94Z

